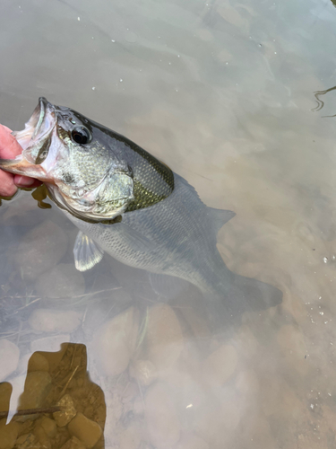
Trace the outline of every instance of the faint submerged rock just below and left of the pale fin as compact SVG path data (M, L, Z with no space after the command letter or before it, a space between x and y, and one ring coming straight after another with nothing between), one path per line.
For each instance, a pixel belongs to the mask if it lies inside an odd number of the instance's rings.
M85 281L73 263L59 263L38 278L35 290L37 295L45 298L67 298L83 295Z

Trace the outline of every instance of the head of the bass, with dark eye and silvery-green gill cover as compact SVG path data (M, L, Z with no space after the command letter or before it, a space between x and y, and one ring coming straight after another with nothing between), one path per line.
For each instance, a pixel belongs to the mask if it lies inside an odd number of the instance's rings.
M113 219L134 200L133 171L104 127L45 98L22 131L14 131L22 154L0 159L6 172L45 183L59 207L92 221Z

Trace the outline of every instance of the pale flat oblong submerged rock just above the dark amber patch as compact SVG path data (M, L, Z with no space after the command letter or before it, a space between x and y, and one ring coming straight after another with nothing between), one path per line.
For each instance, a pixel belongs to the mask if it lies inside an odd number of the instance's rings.
M72 332L81 324L82 313L54 309L35 309L30 328L38 332Z

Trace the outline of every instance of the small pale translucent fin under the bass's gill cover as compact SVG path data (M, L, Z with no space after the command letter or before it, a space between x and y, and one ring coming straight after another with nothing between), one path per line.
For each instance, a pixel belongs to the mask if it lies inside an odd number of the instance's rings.
M76 269L86 271L102 260L104 251L90 237L80 231L74 242L73 255Z

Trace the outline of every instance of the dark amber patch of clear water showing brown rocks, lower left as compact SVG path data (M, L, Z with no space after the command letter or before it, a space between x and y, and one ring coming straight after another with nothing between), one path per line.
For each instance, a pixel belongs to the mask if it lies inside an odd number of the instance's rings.
M64 343L58 352L27 356L26 374L0 383L1 447L104 447L104 393L90 381L85 346ZM6 424L9 414L13 418Z

